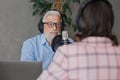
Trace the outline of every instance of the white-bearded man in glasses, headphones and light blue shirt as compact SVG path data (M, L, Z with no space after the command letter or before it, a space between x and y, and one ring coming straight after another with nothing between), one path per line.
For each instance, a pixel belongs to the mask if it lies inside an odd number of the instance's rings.
M62 16L58 11L47 11L38 25L41 34L23 43L21 61L41 61L43 69L47 69L54 56L51 42L56 35L61 34L64 29L62 24Z

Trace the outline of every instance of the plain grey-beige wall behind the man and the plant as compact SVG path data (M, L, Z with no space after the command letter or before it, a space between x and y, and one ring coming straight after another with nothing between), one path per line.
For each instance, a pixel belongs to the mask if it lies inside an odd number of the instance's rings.
M114 33L120 42L120 0L110 0L115 11ZM72 4L73 21L78 5ZM30 0L0 0L0 60L19 60L22 42L39 34L39 16L32 16ZM75 22L75 21L74 21ZM69 30L72 36L73 30Z

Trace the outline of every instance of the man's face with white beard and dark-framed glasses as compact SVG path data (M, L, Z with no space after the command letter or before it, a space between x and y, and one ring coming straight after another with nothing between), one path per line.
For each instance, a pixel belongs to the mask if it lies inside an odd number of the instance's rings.
M49 15L44 22L44 34L48 42L61 33L61 19L56 15Z

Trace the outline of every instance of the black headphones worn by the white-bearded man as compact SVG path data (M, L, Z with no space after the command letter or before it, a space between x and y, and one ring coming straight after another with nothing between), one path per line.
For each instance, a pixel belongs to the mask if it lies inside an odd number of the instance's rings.
M49 11L57 11L57 10L49 10ZM59 12L59 11L57 11ZM46 12L47 13L47 12ZM46 14L45 13L45 14ZM60 13L60 12L59 12ZM45 14L41 17L39 23L38 23L38 30L40 31L40 33L43 33L44 32L44 23L43 23L43 17L45 16ZM61 31L64 30L64 23L63 23L63 17L62 17L62 14L60 13L60 16L61 16L61 19L62 19L62 23L61 23Z

